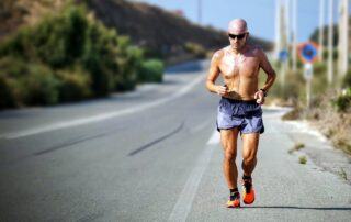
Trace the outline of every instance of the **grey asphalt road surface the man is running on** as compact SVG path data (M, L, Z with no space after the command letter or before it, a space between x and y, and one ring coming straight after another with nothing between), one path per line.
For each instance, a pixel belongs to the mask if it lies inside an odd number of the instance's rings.
M107 99L0 112L0 221L350 221L350 185L287 153L279 109L264 109L256 202L224 207L207 66Z

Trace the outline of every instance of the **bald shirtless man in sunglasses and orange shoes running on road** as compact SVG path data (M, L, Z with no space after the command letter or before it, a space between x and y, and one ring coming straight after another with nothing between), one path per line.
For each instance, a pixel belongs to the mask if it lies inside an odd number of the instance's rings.
M223 170L230 197L228 208L240 207L236 166L237 138L242 140L242 201L251 204L254 190L251 174L257 163L260 134L264 132L261 104L275 80L275 71L261 48L247 44L249 32L242 19L228 25L230 45L217 51L211 62L206 88L222 96L217 113L217 130L224 149ZM267 74L265 84L259 88L259 70ZM225 85L215 85L217 77Z

